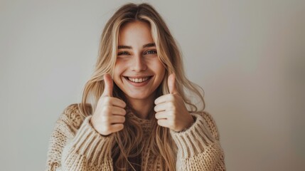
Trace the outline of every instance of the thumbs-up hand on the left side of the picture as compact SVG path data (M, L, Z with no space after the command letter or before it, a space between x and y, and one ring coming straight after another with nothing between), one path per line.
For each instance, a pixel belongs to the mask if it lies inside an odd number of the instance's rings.
M93 128L101 135L109 135L124 128L126 103L123 100L112 97L113 82L109 74L104 75L105 89L97 108L91 118Z

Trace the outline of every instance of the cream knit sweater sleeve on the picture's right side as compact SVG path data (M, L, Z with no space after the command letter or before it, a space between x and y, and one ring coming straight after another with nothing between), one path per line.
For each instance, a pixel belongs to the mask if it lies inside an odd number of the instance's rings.
M192 113L195 123L183 132L171 130L178 147L176 170L225 170L215 121L208 113Z

